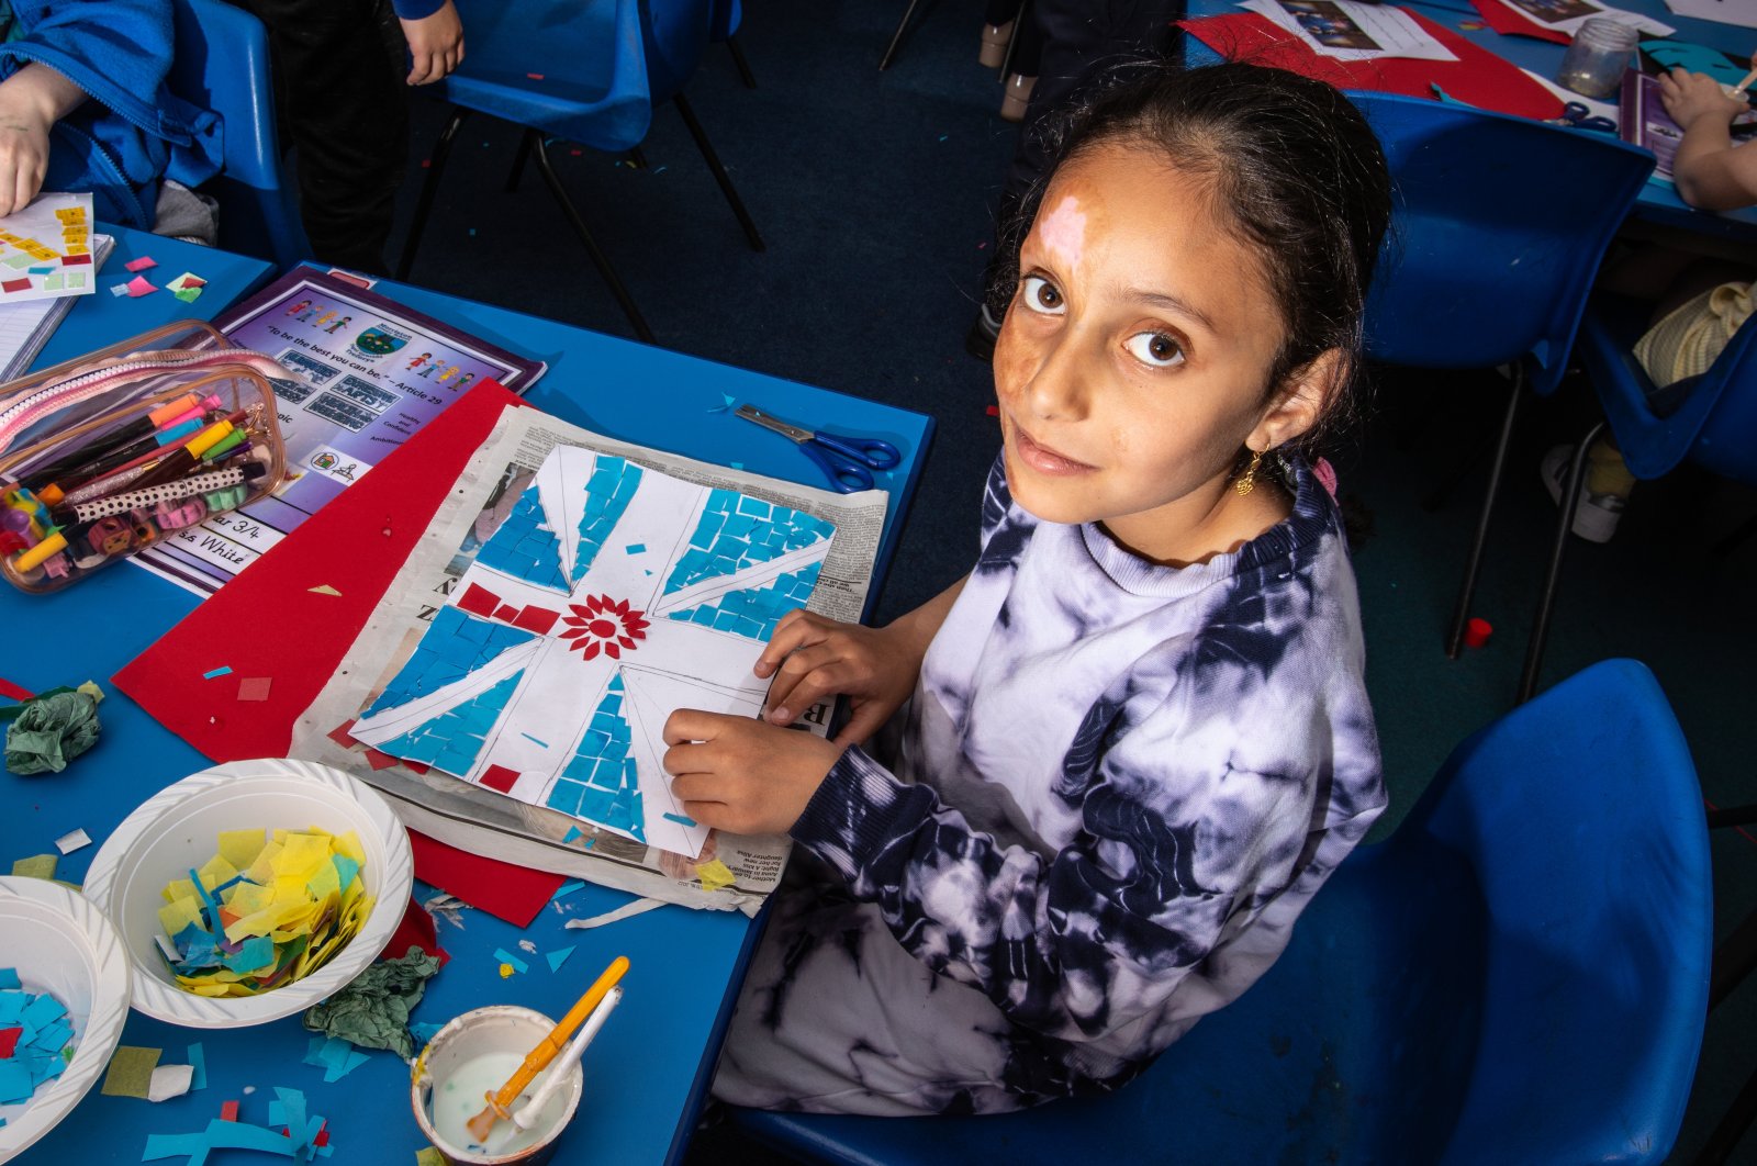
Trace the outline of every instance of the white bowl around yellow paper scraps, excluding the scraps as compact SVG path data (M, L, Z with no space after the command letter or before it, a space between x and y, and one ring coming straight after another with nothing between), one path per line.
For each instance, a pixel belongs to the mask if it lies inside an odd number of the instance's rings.
M372 896L360 932L318 971L260 996L213 999L177 987L156 941L165 885L207 862L223 831L313 825L360 836L360 878ZM202 769L144 803L104 841L84 892L116 925L128 952L135 1008L192 1029L230 1029L304 1011L360 975L402 922L413 882L409 836L383 797L341 769L264 759Z

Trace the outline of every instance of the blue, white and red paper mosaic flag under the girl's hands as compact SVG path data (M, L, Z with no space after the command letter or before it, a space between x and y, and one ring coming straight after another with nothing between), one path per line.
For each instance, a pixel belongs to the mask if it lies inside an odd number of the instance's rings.
M750 669L835 527L559 446L476 553L355 739L696 857L661 766L678 708L754 716Z

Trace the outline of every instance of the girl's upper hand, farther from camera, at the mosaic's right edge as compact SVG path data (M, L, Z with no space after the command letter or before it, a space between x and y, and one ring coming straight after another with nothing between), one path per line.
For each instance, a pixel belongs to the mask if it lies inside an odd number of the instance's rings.
M782 616L752 669L773 676L768 722L791 725L824 697L849 697L849 723L835 743L847 746L878 731L915 690L921 653L893 629L826 620L796 609Z

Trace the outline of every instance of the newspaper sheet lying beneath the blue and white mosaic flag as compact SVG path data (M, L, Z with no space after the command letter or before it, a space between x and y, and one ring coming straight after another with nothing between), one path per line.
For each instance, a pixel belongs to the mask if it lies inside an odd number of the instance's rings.
M824 558L810 609L836 620L861 618L884 532L889 502L884 490L813 490L624 444L536 409L510 407L348 648L336 676L299 718L292 755L353 773L387 794L409 827L452 846L683 906L756 915L780 882L791 846L787 838L745 838L713 831L703 853L689 859L439 771L420 773L383 753L367 753L365 746L346 734L346 725L402 667L425 622L432 620L441 599L457 587L476 548L504 515L499 509L503 500L517 499L550 450L560 444L620 455L685 481L740 490L835 523L836 536ZM805 727L826 736L829 713L828 702L810 709L803 718ZM715 860L729 869L731 885L715 885Z

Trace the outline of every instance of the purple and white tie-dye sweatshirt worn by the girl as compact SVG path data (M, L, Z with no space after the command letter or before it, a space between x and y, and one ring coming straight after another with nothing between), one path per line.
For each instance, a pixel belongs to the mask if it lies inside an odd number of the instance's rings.
M1385 806L1341 523L1290 483L1286 522L1170 569L1037 522L996 464L894 755L849 750L792 831L1098 1078L1254 982Z

